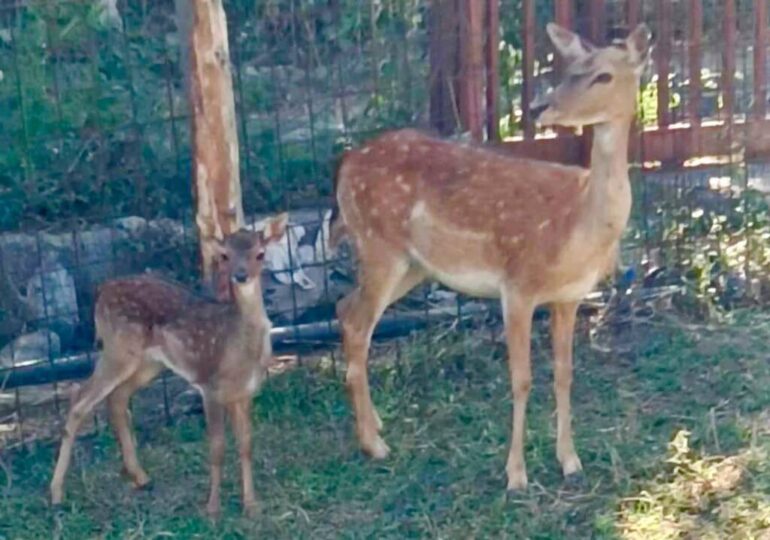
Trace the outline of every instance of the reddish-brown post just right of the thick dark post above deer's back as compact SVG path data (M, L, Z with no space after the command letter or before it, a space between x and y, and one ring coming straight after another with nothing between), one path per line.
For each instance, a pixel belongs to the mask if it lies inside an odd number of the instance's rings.
M474 140L484 135L481 112L484 81L484 0L460 0L460 118Z

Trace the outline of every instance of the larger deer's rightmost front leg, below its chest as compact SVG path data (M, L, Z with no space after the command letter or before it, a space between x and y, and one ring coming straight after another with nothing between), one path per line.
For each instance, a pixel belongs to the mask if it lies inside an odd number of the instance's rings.
M577 302L551 306L553 341L553 387L556 394L556 456L564 476L580 472L580 458L572 442L570 389L572 387L572 343L575 338Z

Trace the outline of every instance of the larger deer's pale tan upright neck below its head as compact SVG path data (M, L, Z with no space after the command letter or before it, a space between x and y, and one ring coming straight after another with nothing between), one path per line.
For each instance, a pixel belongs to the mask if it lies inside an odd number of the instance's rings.
M631 118L594 126L590 212L601 227L623 229L631 211L628 140Z

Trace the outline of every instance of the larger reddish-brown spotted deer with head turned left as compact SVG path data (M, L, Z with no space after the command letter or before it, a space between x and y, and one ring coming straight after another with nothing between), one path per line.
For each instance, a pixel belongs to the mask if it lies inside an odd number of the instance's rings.
M337 175L332 243L352 239L358 287L337 307L347 386L365 452L384 458L382 422L369 393L372 330L388 305L426 278L500 298L513 387L508 488L527 485L524 425L532 384L536 306L550 305L557 457L581 470L572 442L570 387L578 303L614 269L631 208L629 129L650 51L644 25L596 47L555 24L564 80L533 110L543 125L594 126L591 168L518 159L403 130L349 152Z

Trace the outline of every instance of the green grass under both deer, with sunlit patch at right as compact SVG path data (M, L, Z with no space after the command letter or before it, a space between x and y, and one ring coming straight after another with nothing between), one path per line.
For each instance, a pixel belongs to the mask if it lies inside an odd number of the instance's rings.
M622 357L579 340L579 488L564 485L555 458L544 336L534 345L530 487L507 498L503 345L470 331L422 333L401 344L399 362L372 368L393 449L386 461L360 455L340 375L321 365L271 379L255 400L257 519L240 516L232 446L224 517L213 524L201 511L202 419L165 427L144 416L140 458L153 491L122 481L104 430L78 441L54 516L46 497L56 448L39 445L3 457L12 478L0 538L770 538L770 315L659 324L632 339L633 354ZM394 357L393 347L380 356Z

